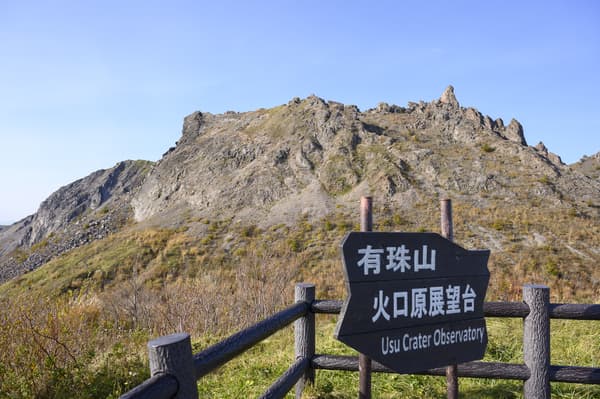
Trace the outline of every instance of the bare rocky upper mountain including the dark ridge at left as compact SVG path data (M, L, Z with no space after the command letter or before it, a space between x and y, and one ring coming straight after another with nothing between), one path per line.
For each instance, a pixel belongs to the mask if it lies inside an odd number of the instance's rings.
M543 143L529 146L515 119L461 107L451 86L431 102L364 112L316 96L252 112L194 112L156 164L95 172L0 230L0 280L127 223L186 225L197 235L207 219L267 228L354 209L365 194L406 214L450 197L598 218L599 159L565 165ZM597 256L590 248L585 256Z

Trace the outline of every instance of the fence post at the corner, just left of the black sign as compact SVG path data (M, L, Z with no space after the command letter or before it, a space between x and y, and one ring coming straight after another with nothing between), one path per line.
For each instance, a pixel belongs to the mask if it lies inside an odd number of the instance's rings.
M312 304L315 300L315 285L310 283L298 283L294 293L295 302L306 302ZM296 383L296 398L302 397L302 391L306 384L314 384L315 369L310 366L310 361L315 356L315 314L312 311L294 322L294 350L296 360L306 358L309 367L304 376Z

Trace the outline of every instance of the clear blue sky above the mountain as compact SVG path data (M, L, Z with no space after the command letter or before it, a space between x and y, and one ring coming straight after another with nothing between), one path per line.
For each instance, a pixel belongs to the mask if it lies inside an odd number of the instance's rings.
M438 98L519 120L567 163L600 151L598 1L0 0L0 224L196 110L316 94Z

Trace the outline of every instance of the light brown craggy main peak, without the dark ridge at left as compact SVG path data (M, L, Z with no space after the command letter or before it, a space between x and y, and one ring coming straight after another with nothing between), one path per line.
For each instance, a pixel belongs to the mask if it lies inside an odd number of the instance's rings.
M439 100L407 108L360 112L311 96L270 110L196 112L132 204L138 221L173 220L187 209L269 225L320 216L365 193L404 207L427 195L481 192L559 205L596 195L599 186L589 184L574 183L557 156L528 147L518 121L505 127L461 108L450 86Z

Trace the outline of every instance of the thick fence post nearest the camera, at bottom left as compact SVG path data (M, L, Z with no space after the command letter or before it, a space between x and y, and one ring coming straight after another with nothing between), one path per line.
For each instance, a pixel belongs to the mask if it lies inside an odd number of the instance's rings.
M169 374L177 380L179 389L174 399L198 398L189 334L172 334L148 342L148 357L151 377Z

